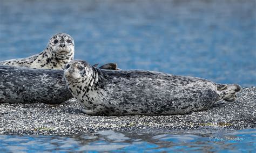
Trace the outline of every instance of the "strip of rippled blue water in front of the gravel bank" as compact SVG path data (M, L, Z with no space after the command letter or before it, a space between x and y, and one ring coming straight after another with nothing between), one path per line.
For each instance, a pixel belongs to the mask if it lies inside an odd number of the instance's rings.
M256 129L207 134L140 134L112 130L63 136L0 136L0 152L253 152Z

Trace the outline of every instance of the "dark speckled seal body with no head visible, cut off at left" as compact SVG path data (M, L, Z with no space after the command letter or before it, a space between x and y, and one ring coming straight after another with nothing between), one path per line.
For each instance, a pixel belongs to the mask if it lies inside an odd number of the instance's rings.
M62 103L72 98L63 73L0 65L0 103Z

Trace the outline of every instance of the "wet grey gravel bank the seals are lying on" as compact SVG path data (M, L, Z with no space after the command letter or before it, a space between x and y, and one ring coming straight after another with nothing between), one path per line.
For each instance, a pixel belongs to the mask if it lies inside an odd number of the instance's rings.
M70 135L98 130L177 132L256 128L256 87L242 88L233 103L218 101L210 110L169 116L89 116L75 99L58 105L0 104L0 134Z

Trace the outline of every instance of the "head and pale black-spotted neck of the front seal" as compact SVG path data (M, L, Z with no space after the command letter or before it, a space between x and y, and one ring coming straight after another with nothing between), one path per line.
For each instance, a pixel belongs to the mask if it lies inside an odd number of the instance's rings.
M85 61L74 60L66 65L64 72L69 91L83 108L91 111L90 114L97 113L92 104L102 101L96 94L100 87L97 70Z

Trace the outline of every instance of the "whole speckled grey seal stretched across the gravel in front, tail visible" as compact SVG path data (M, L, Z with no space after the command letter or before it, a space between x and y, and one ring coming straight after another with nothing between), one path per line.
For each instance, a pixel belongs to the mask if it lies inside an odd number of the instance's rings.
M216 101L234 101L237 84L146 70L100 70L71 61L64 78L89 115L171 115L206 110Z

